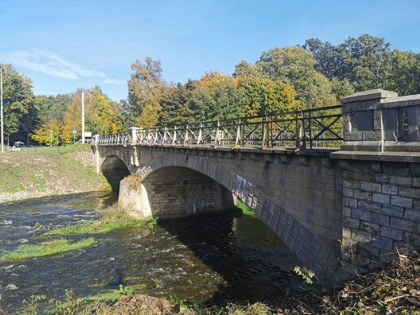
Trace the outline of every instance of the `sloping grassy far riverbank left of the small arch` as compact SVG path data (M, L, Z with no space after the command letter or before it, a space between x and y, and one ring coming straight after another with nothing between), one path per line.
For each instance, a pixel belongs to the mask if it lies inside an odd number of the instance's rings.
M88 144L0 154L0 203L110 189L93 165Z

